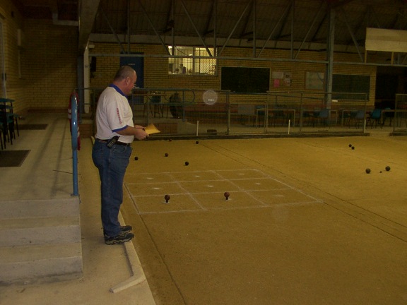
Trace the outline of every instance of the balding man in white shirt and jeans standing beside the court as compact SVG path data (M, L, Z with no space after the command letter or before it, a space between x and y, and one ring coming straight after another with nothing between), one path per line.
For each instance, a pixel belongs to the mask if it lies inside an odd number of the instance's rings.
M134 138L148 137L142 126L134 126L133 112L126 96L136 83L136 71L122 66L100 95L96 109L96 135L92 160L99 169L102 199L102 226L105 244L121 244L134 238L131 226L118 220L123 202L123 180Z

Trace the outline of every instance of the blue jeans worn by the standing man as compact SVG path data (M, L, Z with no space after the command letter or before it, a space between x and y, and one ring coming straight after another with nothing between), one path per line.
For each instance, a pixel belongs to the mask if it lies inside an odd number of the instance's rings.
M95 140L92 149L93 164L99 169L100 194L102 198L102 226L109 237L120 233L118 220L120 205L123 202L123 180L129 165L131 147L113 145Z

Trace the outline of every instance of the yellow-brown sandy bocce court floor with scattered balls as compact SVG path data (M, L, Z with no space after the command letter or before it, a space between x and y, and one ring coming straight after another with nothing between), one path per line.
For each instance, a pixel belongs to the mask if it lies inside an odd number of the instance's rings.
M122 214L157 304L406 304L405 138L133 149Z

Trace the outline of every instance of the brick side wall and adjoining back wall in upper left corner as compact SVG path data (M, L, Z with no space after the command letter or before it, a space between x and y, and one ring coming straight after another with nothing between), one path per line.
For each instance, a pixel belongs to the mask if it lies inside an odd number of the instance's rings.
M77 87L78 28L24 19L11 0L0 0L0 13L4 16L6 95L15 100L15 112L66 112L69 95ZM18 32L23 37L20 45Z

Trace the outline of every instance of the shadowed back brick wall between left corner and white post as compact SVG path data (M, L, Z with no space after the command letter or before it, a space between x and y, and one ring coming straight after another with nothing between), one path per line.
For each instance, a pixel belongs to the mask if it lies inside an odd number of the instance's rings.
M24 77L30 109L68 107L77 87L78 28L53 25L52 20L25 20Z

